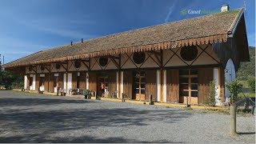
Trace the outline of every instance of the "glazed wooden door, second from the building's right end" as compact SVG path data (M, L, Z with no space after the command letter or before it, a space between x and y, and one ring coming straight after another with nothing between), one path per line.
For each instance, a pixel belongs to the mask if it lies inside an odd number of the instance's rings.
M145 71L134 72L134 97L136 100L145 100L146 73Z

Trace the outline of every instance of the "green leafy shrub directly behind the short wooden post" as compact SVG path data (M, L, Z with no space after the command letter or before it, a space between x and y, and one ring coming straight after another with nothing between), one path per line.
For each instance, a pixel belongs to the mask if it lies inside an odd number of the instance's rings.
M236 79L232 82L226 82L226 88L230 91L230 102L238 101L238 94L242 91L242 83L239 83Z

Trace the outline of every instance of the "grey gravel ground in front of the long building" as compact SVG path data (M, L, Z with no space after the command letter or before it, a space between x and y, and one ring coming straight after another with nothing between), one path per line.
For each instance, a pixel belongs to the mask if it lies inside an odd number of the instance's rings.
M0 142L255 143L255 117L0 90Z

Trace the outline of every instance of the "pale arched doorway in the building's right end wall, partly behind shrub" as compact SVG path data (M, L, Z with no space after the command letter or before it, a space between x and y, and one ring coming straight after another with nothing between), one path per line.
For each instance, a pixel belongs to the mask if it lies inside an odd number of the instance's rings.
M225 81L226 82L231 82L234 80L234 78L236 78L234 62L232 61L231 58L226 62L226 68L225 68L224 73L225 73ZM230 92L229 92L229 90L227 90L227 88L225 86L225 98L229 98L229 97L230 97Z

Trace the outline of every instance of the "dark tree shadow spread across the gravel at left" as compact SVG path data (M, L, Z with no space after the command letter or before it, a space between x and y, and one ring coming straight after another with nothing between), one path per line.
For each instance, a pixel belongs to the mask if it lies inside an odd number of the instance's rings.
M44 98L0 98L1 106L36 106L62 103L89 104L89 101L44 99ZM93 106L98 102L91 102ZM90 107L65 110L1 110L0 142L139 142L125 137L95 138L85 134L78 137L50 137L72 130L98 129L100 127L147 126L150 121L178 122L190 117L191 113L178 110L138 110L134 108L110 108L97 104L97 109ZM74 105L73 105L74 106ZM55 107L56 108L56 107ZM11 133L11 134L6 134ZM143 141L144 142L144 141ZM150 141L146 141L150 142ZM165 140L161 142L167 142Z

